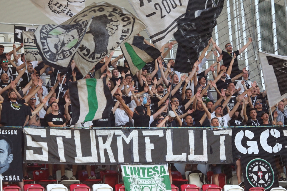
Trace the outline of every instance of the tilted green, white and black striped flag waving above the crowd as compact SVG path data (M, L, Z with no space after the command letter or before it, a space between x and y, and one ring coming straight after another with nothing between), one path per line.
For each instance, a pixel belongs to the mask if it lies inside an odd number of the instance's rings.
M132 74L137 73L146 65L146 63L155 60L161 55L161 52L158 49L148 44L144 44L143 40L143 36L134 36L121 46Z

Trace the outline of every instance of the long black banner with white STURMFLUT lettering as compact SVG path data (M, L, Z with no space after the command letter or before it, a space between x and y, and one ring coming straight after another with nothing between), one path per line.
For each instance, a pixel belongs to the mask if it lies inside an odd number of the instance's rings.
M24 128L27 163L220 164L232 162L230 128Z

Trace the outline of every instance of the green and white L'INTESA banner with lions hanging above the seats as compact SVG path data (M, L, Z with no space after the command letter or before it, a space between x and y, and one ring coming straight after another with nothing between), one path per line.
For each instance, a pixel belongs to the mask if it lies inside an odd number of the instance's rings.
M126 191L171 191L167 164L121 165Z

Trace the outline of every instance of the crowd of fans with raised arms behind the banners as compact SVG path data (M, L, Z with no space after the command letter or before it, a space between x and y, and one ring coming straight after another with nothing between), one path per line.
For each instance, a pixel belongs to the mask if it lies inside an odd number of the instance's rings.
M147 41L144 42L153 46ZM249 38L248 43L236 51L233 50L231 43L227 43L223 51L211 38L198 61L194 63L192 71L187 74L173 69L175 64L173 59L163 61L161 58L147 63L138 73L132 74L126 60L124 66L117 65L117 61L123 58L123 55L112 59L114 54L112 52L85 76L81 75L74 61L67 73L58 73L55 68L41 61L26 61L24 53L16 55L16 51L23 44L19 47L14 45L14 50L9 53L4 53L5 47L0 45L0 123L2 126L69 126L73 113L68 82L83 78L103 78L114 98L114 106L109 118L79 123L70 127L208 127L221 129L244 125L287 125L287 110L284 110L287 100L280 101L269 111L266 91L261 92L256 81L250 81L249 71L246 68L240 70L238 67L237 56L251 42ZM176 43L173 41L161 48L163 58ZM206 52L207 55L204 56ZM12 54L14 59L11 58ZM209 68L203 69L211 54L216 56L216 62ZM11 67L8 67L9 65ZM112 71L109 69L111 66L114 68ZM212 81L207 81L209 72L214 78ZM13 74L16 73L18 75L14 76ZM43 85L42 74L50 75L52 86ZM212 88L217 93L216 99L211 93ZM244 187L241 181L240 160L236 161L236 165L238 184ZM52 165L49 165L51 179L54 178L52 168ZM60 165L59 168L62 174L61 179L65 180L67 178L64 175L65 166ZM76 165L72 168L73 174L76 175ZM93 179L90 168L87 165L89 178ZM196 165L190 167L187 165L186 168L196 170ZM104 169L105 167L97 167L97 170ZM221 167L220 165L212 166L212 170L216 184L216 174L221 173ZM282 178L281 175L278 177ZM25 165L24 178L29 179Z

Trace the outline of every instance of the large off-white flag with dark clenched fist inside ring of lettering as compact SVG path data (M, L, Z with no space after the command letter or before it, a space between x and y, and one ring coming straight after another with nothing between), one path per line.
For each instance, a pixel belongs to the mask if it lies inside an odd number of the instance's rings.
M131 12L106 2L93 3L62 24L75 24L92 17L89 31L74 57L83 76L102 58L146 28Z

